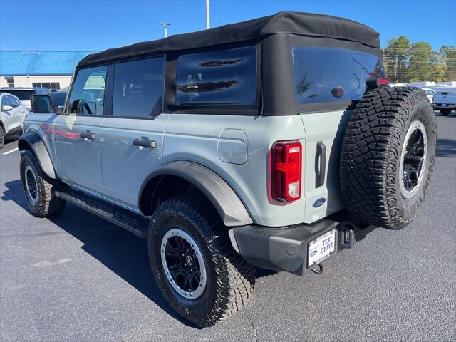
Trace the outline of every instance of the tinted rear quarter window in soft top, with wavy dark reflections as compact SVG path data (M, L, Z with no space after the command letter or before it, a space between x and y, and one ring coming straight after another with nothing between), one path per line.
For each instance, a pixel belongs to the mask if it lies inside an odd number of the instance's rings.
M256 99L257 49L253 46L177 59L177 105L252 105Z

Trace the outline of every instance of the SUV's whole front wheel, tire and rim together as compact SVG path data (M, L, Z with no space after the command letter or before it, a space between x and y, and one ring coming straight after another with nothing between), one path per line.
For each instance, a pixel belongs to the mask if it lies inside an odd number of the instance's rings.
M20 172L22 190L33 215L49 217L59 214L65 208L66 202L54 194L62 186L61 183L49 180L44 175L33 152L22 152Z

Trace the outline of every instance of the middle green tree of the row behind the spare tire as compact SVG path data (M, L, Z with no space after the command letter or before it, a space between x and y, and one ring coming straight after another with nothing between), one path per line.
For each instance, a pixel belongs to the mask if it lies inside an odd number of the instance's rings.
M405 82L428 81L435 64L435 52L429 43L420 41L410 47L408 67L404 73Z

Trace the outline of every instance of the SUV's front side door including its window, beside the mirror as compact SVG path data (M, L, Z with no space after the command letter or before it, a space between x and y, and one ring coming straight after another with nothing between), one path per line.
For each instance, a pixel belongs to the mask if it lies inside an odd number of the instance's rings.
M104 190L100 163L100 126L107 66L78 71L66 107L53 129L56 160L62 180L83 190Z

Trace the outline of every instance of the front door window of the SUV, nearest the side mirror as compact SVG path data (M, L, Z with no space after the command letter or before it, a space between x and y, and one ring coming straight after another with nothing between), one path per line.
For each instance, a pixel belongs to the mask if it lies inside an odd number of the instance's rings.
M70 95L70 113L103 115L107 72L107 66L97 66L78 71Z

